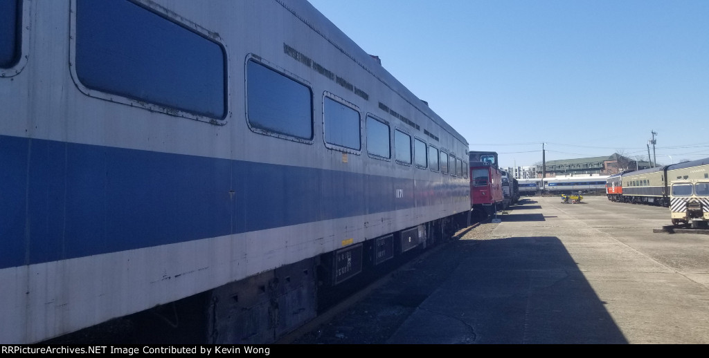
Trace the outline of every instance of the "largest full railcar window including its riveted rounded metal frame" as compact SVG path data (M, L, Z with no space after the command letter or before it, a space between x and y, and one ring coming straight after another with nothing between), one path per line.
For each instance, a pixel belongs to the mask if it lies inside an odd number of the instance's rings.
M92 10L104 10L91 8L98 3L72 0L69 61L79 91L151 112L226 124L230 115L228 51L215 31L140 0L101 3L116 6L119 11L105 9L103 16L94 16ZM109 21L111 18L113 21ZM133 25L125 23L125 18L135 19ZM135 29L140 35L119 38L119 31L108 25ZM104 30L96 31L99 28ZM174 76L174 72L180 76Z

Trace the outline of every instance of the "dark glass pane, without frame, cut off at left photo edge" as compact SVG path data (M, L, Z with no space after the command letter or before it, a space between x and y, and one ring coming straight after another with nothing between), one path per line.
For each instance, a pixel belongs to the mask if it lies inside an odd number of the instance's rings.
M0 1L0 67L9 69L20 59L21 0Z

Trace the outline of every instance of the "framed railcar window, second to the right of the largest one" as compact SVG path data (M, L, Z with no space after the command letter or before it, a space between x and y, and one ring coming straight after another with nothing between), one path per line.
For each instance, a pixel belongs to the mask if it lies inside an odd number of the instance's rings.
M350 112L343 112L343 115L337 116L328 114L328 112L333 113L337 110L350 110ZM354 114L357 115L357 125L347 123L354 119L354 117L350 117ZM343 123L346 123L346 128L339 127ZM357 128L357 148L348 146L350 143L346 142L350 139L337 137L350 134L347 133L348 130L354 130L354 127ZM354 138L354 136L352 136L352 138ZM340 98L334 93L327 91L323 93L323 142L325 142L326 148L335 151L344 151L357 155L362 153L362 112L359 111L357 105L347 102L344 98Z

